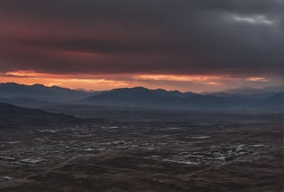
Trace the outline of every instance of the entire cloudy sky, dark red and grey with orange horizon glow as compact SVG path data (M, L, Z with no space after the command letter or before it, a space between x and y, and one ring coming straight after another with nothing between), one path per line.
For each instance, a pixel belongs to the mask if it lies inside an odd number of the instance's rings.
M0 83L280 85L283 34L284 0L0 0Z

